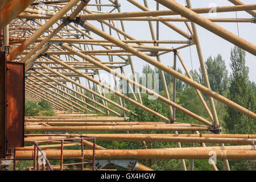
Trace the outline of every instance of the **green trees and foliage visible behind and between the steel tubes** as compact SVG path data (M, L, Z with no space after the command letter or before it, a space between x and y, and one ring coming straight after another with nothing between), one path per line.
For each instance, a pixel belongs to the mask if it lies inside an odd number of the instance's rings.
M245 52L241 49L235 47L231 51L230 56L231 64L230 67L232 68L232 74L228 79L228 71L226 71L225 61L222 60L221 55L217 55L217 57L209 57L208 60L205 62L205 66L207 68L209 82L212 90L222 94L222 96L228 97L230 100L240 104L243 107L251 111L255 111L255 97L256 97L256 85L255 82L250 82L248 73L249 68L245 66ZM172 68L172 67L170 67ZM178 72L183 74L180 69L177 69ZM143 73L158 73L159 75L159 94L161 96L165 96L163 91L163 82L161 81L161 76L158 68L151 68L150 65L146 64L142 70ZM203 83L203 76L200 72L196 70L190 71L193 80L199 83ZM186 74L185 74L186 75ZM164 73L167 82L167 88L172 98L172 82L173 77ZM187 75L186 75L187 76ZM148 76L146 75L146 80L148 80ZM142 82L142 77L138 80L140 83ZM152 86L154 86L155 78L152 77ZM195 114L200 115L201 117L210 121L209 115L207 111L205 111L203 104L201 103L195 89L191 86L184 84L183 82L177 80L177 92L176 92L176 103L185 107L186 109L192 111ZM98 93L98 90L96 90ZM70 92L75 96L75 93ZM84 94L88 97L92 97L89 92L84 91ZM118 97L113 93L106 93L105 94L109 100L112 100L116 103L119 103ZM131 93L126 94L127 97L133 98ZM164 102L155 99L153 100L152 97L148 97L148 94L141 93L143 105L156 111L159 114L162 114L164 117L170 118L170 114L168 112L168 106ZM80 96L78 98L81 99ZM73 98L72 98L73 100ZM103 104L102 99L96 97L96 101ZM86 102L90 105L95 105L93 102L86 100ZM209 102L206 100L206 103L209 107ZM82 103L79 102L82 105ZM121 113L121 110L117 107L109 104L108 107ZM126 116L130 117L130 121L155 121L155 122L164 122L162 119L159 119L154 114L148 113L148 111L141 109L130 102L125 101L125 107L131 110L132 112L127 113ZM242 115L231 109L226 107L224 104L220 102L215 102L215 107L218 115L218 120L220 125L222 126L223 133L236 133L236 134L253 134L256 131L255 128L255 121L249 119L245 115ZM40 101L38 104L35 101L26 101L26 115L39 115L39 113L44 115L51 115L54 114L51 105L48 102ZM72 110L69 111L72 113ZM86 113L86 111L85 111ZM98 113L96 111L95 113ZM101 113L99 115L102 115ZM111 115L111 114L110 114ZM194 124L202 124L196 119L185 115L179 110L176 110L176 121L177 122L184 122L184 123L194 123ZM114 132L114 131L79 131L79 132L69 132L78 133L78 134L88 134L90 133L123 133L123 132ZM129 133L151 133L151 134L172 134L172 131L130 131ZM179 132L182 133L190 133L189 131ZM201 132L200 132L201 133ZM105 148L112 148L112 149L142 149L142 148L175 148L175 142L127 142L127 141L96 141L96 144L105 147ZM191 147L191 144L181 143L182 147ZM199 147L199 144L195 144L196 147ZM217 146L208 144L208 146ZM72 146L70 149L79 149L78 146ZM74 162L76 162L74 160ZM189 170L189 162L190 160L185 160L187 169ZM51 162L52 163L52 162ZM53 161L53 164L59 164L59 161ZM182 170L180 160L139 160L139 163L142 163L148 167L151 167L155 170ZM256 163L255 161L251 160L229 160L230 168L232 170L255 170ZM31 163L27 162L20 162L20 169L23 169L23 166L32 166ZM217 168L219 170L224 169L224 162L223 160L217 160ZM118 169L125 170L124 168L118 167ZM212 171L212 166L208 163L208 160L194 160L194 170L195 171L205 171L209 170Z

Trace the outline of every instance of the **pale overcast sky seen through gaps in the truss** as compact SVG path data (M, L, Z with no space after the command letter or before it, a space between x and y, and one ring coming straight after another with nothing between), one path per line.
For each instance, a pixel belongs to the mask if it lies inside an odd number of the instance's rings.
M143 0L137 0L139 3L144 5ZM108 0L102 0L102 3L109 3ZM130 12L130 11L141 11L134 5L131 5L131 3L119 0L121 3L121 11L122 12ZM178 3L181 5L185 5L185 0L177 0ZM255 0L243 0L246 4L253 4L255 3ZM210 7L212 5L216 6L232 6L233 4L226 0L211 0L211 1L199 1L199 0L191 0L192 7ZM154 0L148 0L148 5L150 10L156 10L156 2ZM92 9L92 7L89 7ZM108 7L103 7L102 11L109 11L110 9ZM163 7L160 5L160 10L167 10L166 7ZM117 13L117 10L113 11L114 13ZM236 18L235 12L230 13L217 13L216 16L211 17L209 14L201 14L205 18ZM167 16L166 16L167 17ZM172 16L175 17L175 16ZM176 16L180 17L180 16ZM245 12L238 11L237 12L237 18L251 18L250 14L247 14ZM121 24L118 21L114 21L115 25L121 29ZM154 27L156 27L156 22L152 22ZM183 22L171 22L175 24L177 27L181 28L182 30L187 32L187 27L185 27L185 24ZM93 23L94 24L94 23ZM148 22L135 22L135 21L124 21L126 32L133 36L135 39L138 40L152 40L150 30L148 28ZM177 34L175 31L171 30L167 26L165 26L162 23L160 24L160 35L159 40L185 40L185 38L179 34ZM227 30L233 32L234 34L239 35L241 38L248 40L249 42L256 44L256 24L254 23L217 23L218 25L226 28ZM95 25L95 24L94 24ZM100 28L100 23L96 25ZM237 28L238 26L238 28ZM108 27L104 26L106 28L106 32L108 32ZM210 55L217 56L218 53L222 55L222 58L225 60L226 67L228 68L229 73L231 72L231 69L229 67L230 64L230 49L234 47L232 43L229 43L228 41L220 38L219 36L213 34L212 32L209 32L205 30L203 27L197 26L197 31L199 33L199 39L201 43L201 48L203 51L204 60L207 60L207 57ZM116 36L116 35L114 35ZM152 44L147 44L151 45ZM179 47L181 44L160 44L160 46L170 46L170 47ZM189 70L197 69L200 67L199 59L197 56L196 46L191 46L191 55L189 48L180 49L180 55L183 57L183 60L185 61L185 64L187 65L187 68ZM163 56L161 56L162 63L165 65L172 65L173 64L173 53L167 53ZM191 61L192 57L192 61ZM156 59L156 57L153 57ZM118 57L115 57L114 61L118 61ZM133 62L135 65L135 71L141 72L143 65L147 64L146 61L139 59L138 57L133 56ZM249 78L251 81L256 82L256 60L255 56L251 55L251 53L246 52L246 65L249 67ZM177 67L181 68L184 72L184 69L182 68L182 65L177 61ZM131 73L130 66L125 67L125 71L127 73ZM119 72L119 71L118 71Z

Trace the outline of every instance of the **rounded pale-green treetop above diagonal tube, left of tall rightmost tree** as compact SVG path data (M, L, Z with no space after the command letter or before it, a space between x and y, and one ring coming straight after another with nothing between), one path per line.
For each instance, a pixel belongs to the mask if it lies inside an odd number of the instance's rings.
M209 56L205 62L205 68L207 69L207 75L210 83L210 89L214 92L218 92L222 95L226 89L228 89L228 70L226 69L225 60L222 59L220 54L217 57L212 59L212 56ZM204 84L203 73L200 71L200 82Z

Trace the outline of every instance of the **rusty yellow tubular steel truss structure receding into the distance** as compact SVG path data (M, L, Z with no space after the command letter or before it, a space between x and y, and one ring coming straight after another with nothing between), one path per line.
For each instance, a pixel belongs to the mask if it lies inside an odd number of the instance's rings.
M59 112L56 117L26 117L25 130L48 133L124 131L125 134L89 134L89 137L96 138L96 141L177 143L177 148L143 150L110 150L96 145L96 163L101 164L97 169L111 162L129 169L151 170L134 160L180 159L183 169L187 170L184 159L190 159L189 168L193 170L193 159L209 159L209 152L213 150L216 152L217 159L224 160L226 170L230 170L228 159L255 160L255 135L221 134L214 102L221 102L254 120L256 120L256 114L210 89L197 32L199 25L255 56L256 46L253 43L214 22L255 23L256 4L246 5L240 0L228 1L233 5L216 7L216 13L246 11L249 18L205 18L202 14L208 13L211 8L193 8L190 0L185 1L186 6L174 0L127 0L134 7L130 12L122 12L122 1L118 0L104 2L101 0L1 1L0 28L3 35L1 48L6 52L6 61L25 65L26 99L45 100L54 109L59 110L56 111ZM155 3L156 10L148 8L150 3ZM159 5L164 6L166 10L159 10ZM151 40L139 40L129 35L125 31L126 21L148 22L148 27L144 27L144 31L150 32ZM156 27L153 26L153 22L156 22ZM182 30L172 22L184 22L188 31ZM170 34L180 35L183 39L159 40L160 23L170 28ZM121 24L121 27L118 27L118 24ZM160 46L161 44L168 46ZM205 86L193 81L179 53L181 49L190 46L196 47ZM166 53L174 54L173 69L161 63L161 56ZM159 68L164 97L141 85L136 76L129 78L126 75L124 68L129 68L135 75L134 56ZM177 59L183 65L187 76L177 72ZM113 76L115 88L102 81L103 71ZM174 77L173 98L169 96L164 73ZM86 84L82 83L82 79L86 80ZM117 79L128 83L133 97L127 97L123 93ZM209 115L209 121L176 104L176 79L195 88ZM118 103L106 97L106 90L118 97ZM171 119L143 105L140 90L164 102ZM202 93L208 96L209 106ZM96 97L102 102L99 102ZM165 122L127 122L126 113L131 110L125 107L125 101L154 114ZM60 114L61 111L68 110L72 110L73 114L67 114L67 112L64 115ZM87 114L78 113L84 110ZM176 121L175 110L196 119L201 122L201 125ZM105 114L105 116L97 116L94 112ZM174 134L129 134L129 131L174 131ZM179 134L179 131L191 131L192 134ZM213 134L200 134L200 131L212 131ZM81 137L81 134L26 135L24 141L34 143L40 140L66 139L74 136ZM200 143L201 147L181 148L182 142ZM218 143L220 146L207 147L205 143ZM243 144L243 146L224 146L224 143ZM92 146L92 143L85 145ZM34 148L31 147L15 148L15 160L32 160L33 152ZM84 150L82 154L80 150L45 150L44 152L48 159L56 159L60 155L64 155L64 158L78 158L82 155L85 159L91 159L93 150ZM210 159L210 161L213 169L218 170L213 160ZM133 165L126 165L129 162Z

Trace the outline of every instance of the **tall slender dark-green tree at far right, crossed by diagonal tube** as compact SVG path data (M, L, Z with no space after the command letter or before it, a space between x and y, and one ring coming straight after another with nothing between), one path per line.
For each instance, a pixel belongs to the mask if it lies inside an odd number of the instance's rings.
M249 81L249 68L245 65L245 51L234 47L230 54L230 67L232 73L229 77L230 87L228 98L237 104L254 112L255 110L255 92ZM238 111L226 107L225 116L226 129L230 133L252 134L256 131L255 121Z

